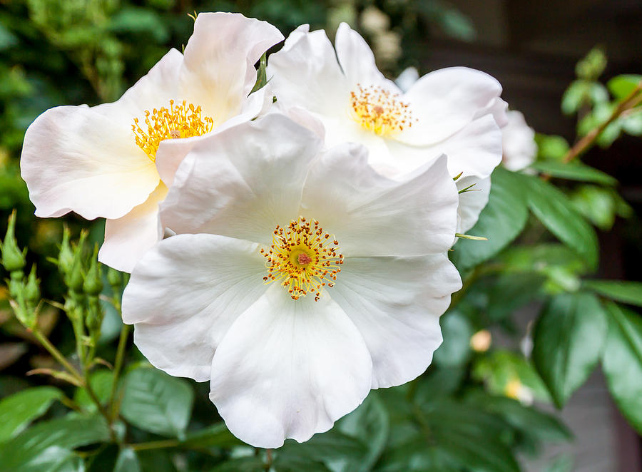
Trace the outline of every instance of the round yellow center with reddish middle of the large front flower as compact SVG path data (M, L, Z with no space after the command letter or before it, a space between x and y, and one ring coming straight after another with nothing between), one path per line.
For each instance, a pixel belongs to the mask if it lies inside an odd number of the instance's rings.
M261 250L267 259L263 280L266 284L279 282L293 300L313 293L318 301L323 287L333 287L341 272L343 255L338 250L339 242L317 220L299 217L285 228L277 225L272 246Z

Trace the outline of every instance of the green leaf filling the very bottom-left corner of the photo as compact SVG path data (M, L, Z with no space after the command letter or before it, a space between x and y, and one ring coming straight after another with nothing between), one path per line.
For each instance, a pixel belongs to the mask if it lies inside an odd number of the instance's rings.
M0 444L0 472L55 471L71 460L71 449L109 439L101 416L69 414L43 421Z

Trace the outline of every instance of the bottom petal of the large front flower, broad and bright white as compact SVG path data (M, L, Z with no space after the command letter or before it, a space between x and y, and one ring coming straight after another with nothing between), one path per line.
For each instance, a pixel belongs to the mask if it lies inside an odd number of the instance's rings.
M361 335L330 297L294 301L273 285L220 343L210 399L235 436L276 448L330 429L365 399L371 376Z

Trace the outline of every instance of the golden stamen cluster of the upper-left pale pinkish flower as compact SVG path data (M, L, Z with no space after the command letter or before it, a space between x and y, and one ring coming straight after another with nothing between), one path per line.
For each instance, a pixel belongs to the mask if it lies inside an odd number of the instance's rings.
M174 106L170 100L170 108L153 109L150 113L145 111L145 124L147 131L138 124L138 118L134 118L131 129L136 138L136 144L149 156L152 162L156 162L156 151L164 139L191 138L209 133L214 128L214 120L209 116L202 116L200 106L193 103L181 103Z

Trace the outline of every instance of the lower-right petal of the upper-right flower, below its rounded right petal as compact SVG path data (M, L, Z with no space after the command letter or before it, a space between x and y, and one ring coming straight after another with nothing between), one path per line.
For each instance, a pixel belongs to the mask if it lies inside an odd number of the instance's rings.
M448 170L453 177L463 172L485 178L501 163L501 130L493 116L487 114L450 138L424 149L432 155L447 155Z

